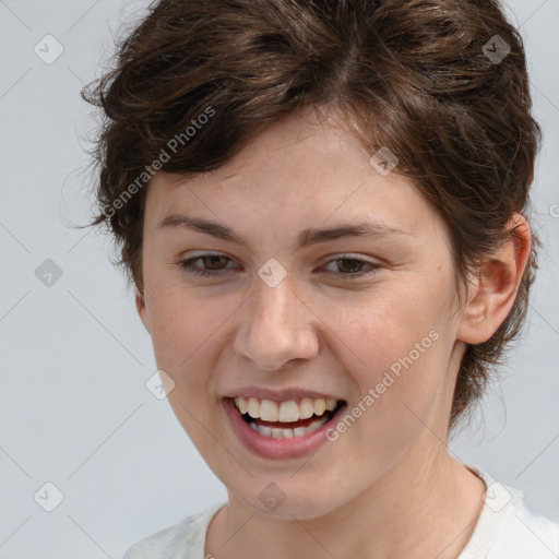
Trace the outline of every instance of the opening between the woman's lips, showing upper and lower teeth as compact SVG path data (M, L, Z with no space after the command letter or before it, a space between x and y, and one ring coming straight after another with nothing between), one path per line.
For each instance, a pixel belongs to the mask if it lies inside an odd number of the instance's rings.
M314 432L345 404L344 400L310 397L274 402L238 396L233 402L252 430L272 439L298 438Z

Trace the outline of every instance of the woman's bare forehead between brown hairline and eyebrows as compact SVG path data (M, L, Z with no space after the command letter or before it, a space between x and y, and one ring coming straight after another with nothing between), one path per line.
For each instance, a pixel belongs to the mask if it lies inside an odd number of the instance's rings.
M289 223L302 240L304 231L319 224L371 222L414 233L437 221L409 179L394 171L382 176L370 156L338 118L319 119L305 110L265 129L214 171L157 174L146 222L155 227L186 213L247 230L260 218L260 228L262 221L281 230Z

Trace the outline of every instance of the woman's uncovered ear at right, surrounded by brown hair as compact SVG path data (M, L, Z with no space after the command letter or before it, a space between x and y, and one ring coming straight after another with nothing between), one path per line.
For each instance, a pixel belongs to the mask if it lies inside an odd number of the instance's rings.
M510 237L479 269L473 292L462 308L457 340L466 344L487 342L509 314L526 269L532 236L524 216L509 221Z

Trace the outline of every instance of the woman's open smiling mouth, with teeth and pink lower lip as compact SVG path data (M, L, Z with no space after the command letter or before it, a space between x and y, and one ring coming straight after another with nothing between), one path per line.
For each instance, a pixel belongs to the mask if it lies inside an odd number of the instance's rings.
M234 396L222 400L239 441L264 459L296 459L316 452L347 407L345 400L302 397L276 402Z

